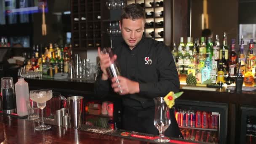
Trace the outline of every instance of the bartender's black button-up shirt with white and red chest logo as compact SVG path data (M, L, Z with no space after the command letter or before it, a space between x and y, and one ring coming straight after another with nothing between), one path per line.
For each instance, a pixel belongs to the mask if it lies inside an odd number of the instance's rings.
M121 75L139 82L139 93L121 96L123 105L142 109L154 107L153 98L165 96L170 91L179 91L179 77L169 48L163 43L142 38L132 50L124 42L113 49ZM110 80L101 80L99 74L95 83L96 95L108 94L111 88Z

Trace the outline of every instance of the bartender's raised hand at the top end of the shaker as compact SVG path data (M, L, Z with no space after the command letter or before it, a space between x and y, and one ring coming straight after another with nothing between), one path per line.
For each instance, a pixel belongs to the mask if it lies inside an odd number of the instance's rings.
M111 61L110 61L110 57L109 54L103 54L101 53L101 48L98 48L98 56L100 59L100 65L101 65L101 70L102 70L102 77L101 80L107 80L108 79L108 75L107 75L107 68L110 66ZM117 56L114 55L113 57L114 59L117 59Z

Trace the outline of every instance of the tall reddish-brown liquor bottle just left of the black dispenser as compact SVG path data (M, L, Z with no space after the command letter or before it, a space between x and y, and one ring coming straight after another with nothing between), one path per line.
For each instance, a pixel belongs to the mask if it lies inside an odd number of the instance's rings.
M236 64L237 64L237 54L235 53L235 39L232 39L232 45L231 45L231 53L229 56L229 72L230 75L235 75L236 70Z

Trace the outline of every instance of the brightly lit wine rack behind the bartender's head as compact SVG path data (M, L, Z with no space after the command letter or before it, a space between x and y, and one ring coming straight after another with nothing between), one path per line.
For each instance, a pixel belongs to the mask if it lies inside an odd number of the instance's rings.
M144 36L165 42L165 3L168 0L127 0L139 3L146 13ZM170 26L171 27L171 26Z

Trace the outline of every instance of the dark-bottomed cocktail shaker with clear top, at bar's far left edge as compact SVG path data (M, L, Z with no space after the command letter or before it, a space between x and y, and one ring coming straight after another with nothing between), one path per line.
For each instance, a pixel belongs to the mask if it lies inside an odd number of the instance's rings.
M16 98L14 93L14 85L12 77L2 77L1 91L3 107L2 110L5 114L11 114L16 111Z

